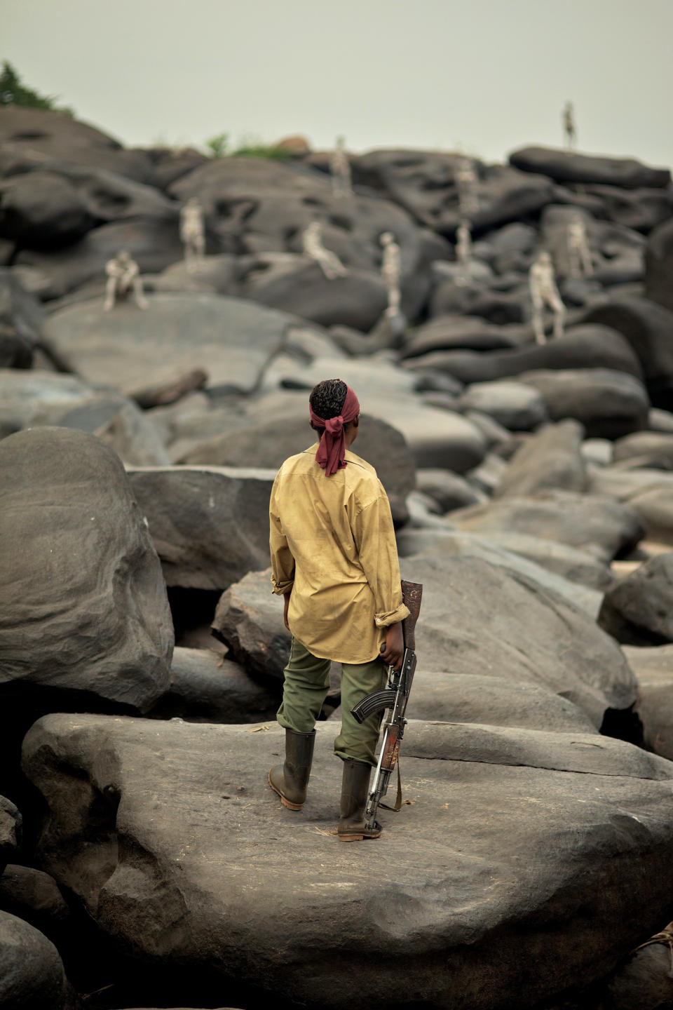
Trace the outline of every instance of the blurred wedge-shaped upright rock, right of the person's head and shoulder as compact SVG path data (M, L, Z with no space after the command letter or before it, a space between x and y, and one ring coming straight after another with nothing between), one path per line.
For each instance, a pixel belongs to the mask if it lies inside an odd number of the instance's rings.
M586 467L580 452L584 429L574 420L547 424L521 445L493 494L527 497L538 491L585 491Z

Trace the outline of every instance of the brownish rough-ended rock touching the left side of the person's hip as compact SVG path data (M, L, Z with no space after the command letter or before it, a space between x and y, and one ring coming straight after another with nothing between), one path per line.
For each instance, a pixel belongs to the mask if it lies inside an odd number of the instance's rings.
M290 633L283 600L271 593L270 568L250 572L222 595L213 633L246 670L283 679L290 659Z

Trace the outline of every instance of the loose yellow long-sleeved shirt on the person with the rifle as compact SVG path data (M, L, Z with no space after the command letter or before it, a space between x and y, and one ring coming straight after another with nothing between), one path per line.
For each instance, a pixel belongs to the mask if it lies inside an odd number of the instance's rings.
M272 592L291 593L294 636L314 655L369 663L402 602L390 506L376 471L346 450L332 477L314 444L281 467L269 502Z

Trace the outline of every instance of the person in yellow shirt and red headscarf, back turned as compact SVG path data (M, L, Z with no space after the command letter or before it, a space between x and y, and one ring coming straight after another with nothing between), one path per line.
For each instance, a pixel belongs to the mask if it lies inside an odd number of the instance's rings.
M385 686L387 665L399 669L401 622L409 616L387 495L373 467L350 451L359 413L344 382L319 383L309 397L318 450L314 444L286 460L269 502L272 591L285 598L293 639L277 713L286 759L270 769L268 782L284 806L301 810L330 666L341 663L342 723L334 752L343 761L342 841L381 832L364 822L381 714L360 724L350 710Z

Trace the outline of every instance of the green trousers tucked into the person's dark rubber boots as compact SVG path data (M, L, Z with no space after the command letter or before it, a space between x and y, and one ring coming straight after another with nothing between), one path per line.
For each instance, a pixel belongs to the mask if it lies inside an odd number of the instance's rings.
M330 660L319 660L293 637L285 669L283 704L277 711L277 720L286 729L311 732L329 690L330 666ZM343 663L341 667L341 731L334 740L334 752L342 761L375 765L374 749L383 713L374 712L359 723L350 710L365 695L385 687L387 668L380 660Z

